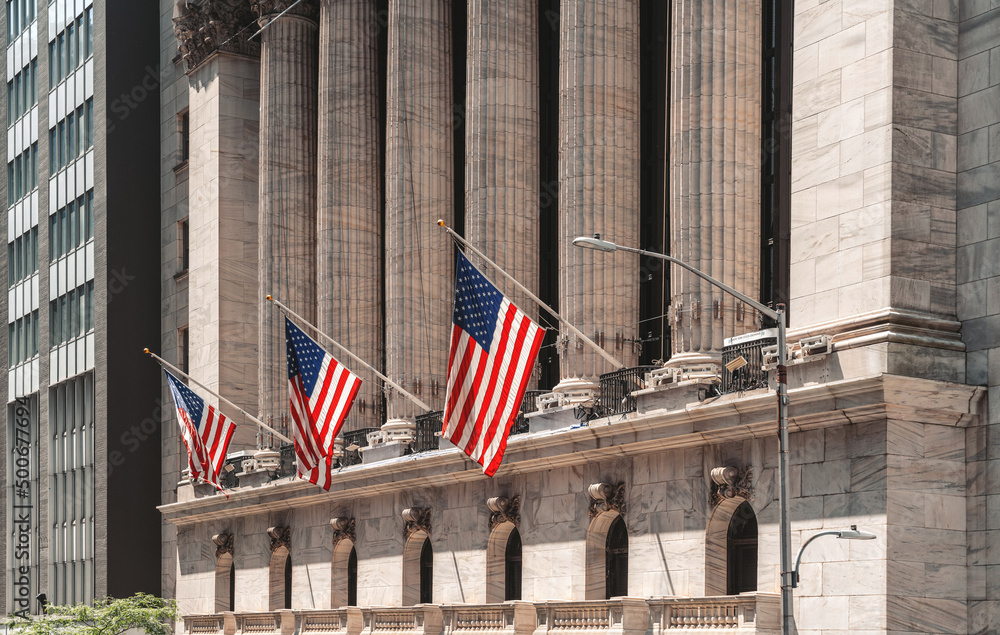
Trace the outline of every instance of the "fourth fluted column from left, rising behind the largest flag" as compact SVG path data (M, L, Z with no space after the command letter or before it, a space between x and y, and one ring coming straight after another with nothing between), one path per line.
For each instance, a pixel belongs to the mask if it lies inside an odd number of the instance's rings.
M466 238L538 293L538 7L470 0L465 120ZM530 316L534 301L500 276Z

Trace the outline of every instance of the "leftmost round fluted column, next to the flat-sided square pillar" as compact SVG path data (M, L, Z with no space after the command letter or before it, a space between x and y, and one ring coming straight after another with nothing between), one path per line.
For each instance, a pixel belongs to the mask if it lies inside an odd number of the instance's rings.
M261 23L290 2L261 2ZM317 25L309 0L261 34L260 288L306 319L316 317ZM284 426L288 413L285 331L266 303L260 323L260 416Z

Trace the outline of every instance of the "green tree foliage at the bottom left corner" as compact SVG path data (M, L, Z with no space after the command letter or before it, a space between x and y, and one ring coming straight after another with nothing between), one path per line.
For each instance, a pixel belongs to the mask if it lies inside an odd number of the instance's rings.
M170 635L177 603L137 593L130 598L103 598L93 605L49 604L45 614L31 619L8 619L11 635L121 635L139 629L147 635Z

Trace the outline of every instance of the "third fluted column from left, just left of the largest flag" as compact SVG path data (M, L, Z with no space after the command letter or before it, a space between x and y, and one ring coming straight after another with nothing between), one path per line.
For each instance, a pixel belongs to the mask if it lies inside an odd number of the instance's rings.
M390 0L386 95L386 370L444 405L454 296L451 2ZM419 408L390 393L392 420ZM403 430L390 421L385 430Z

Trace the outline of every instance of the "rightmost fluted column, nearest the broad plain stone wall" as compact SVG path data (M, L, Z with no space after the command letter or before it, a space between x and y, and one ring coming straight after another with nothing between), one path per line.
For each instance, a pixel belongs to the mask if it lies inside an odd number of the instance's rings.
M760 2L673 5L670 251L758 297L760 291ZM723 339L755 328L754 311L673 267L673 356L718 360Z

